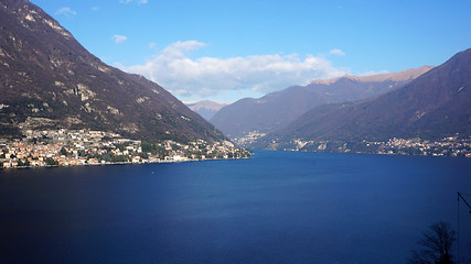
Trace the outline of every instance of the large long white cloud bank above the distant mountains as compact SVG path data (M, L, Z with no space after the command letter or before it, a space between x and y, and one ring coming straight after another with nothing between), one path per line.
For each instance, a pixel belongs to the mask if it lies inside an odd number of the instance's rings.
M207 97L247 89L266 94L350 73L333 67L324 56L269 54L195 59L188 56L189 52L204 46L196 41L176 42L159 51L143 65L116 66L143 75L179 97Z

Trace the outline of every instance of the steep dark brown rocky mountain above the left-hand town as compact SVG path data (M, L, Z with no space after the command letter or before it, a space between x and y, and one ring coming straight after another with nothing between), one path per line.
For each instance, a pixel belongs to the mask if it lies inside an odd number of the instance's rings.
M26 0L0 1L0 133L68 128L131 139L224 135L142 76L110 67Z

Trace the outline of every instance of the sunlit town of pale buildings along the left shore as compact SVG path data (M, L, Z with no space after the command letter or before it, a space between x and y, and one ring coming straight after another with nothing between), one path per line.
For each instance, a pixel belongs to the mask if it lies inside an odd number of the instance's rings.
M92 130L23 132L22 139L0 139L0 168L228 160L251 154L229 141L148 143Z

